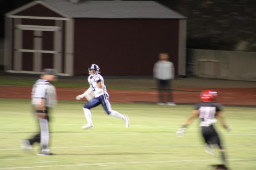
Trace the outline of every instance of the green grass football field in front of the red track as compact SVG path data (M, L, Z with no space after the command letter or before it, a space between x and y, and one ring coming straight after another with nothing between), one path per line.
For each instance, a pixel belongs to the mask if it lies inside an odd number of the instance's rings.
M113 103L128 114L130 128L108 116L101 107L92 109L94 129L86 123L82 102L60 101L52 110L52 156L20 149L20 139L37 131L29 100L0 99L0 169L210 169L219 157L204 152L198 120L184 137L175 131L189 116L192 105L175 107L153 104ZM225 107L225 132L217 123L227 149L230 169L256 169L255 107Z

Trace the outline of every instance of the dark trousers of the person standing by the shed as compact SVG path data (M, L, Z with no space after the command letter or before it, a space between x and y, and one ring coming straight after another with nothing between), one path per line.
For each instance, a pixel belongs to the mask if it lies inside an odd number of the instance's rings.
M167 103L173 102L171 93L171 80L157 79L158 98L159 102Z

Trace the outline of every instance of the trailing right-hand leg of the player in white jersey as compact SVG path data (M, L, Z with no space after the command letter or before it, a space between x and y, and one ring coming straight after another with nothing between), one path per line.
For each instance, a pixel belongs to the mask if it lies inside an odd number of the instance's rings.
M129 128L129 118L127 115L120 114L119 112L112 110L109 98L107 94L100 96L101 105L108 115L120 118L126 124L126 128Z

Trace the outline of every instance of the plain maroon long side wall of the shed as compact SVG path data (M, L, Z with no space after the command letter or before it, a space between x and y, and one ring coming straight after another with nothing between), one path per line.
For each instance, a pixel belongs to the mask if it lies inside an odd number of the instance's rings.
M178 70L178 19L75 19L74 73L97 63L104 75L152 75L158 53Z

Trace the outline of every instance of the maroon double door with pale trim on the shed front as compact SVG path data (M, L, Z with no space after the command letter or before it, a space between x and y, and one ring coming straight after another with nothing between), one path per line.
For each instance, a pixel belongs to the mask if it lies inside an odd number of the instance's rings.
M62 73L59 27L18 25L16 28L15 41L20 45L16 48L15 70L40 72L44 68L55 68Z

